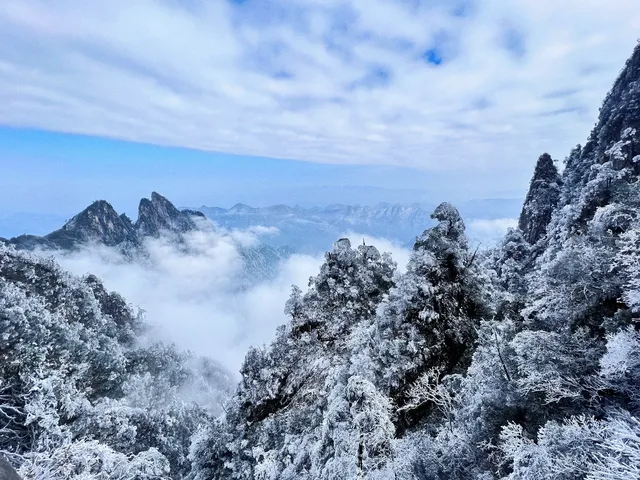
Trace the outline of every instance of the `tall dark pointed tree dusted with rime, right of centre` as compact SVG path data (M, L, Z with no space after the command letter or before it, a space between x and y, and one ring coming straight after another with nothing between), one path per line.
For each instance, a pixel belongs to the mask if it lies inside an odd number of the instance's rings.
M376 320L378 382L400 407L408 386L428 369L464 371L475 326L489 315L476 252L468 249L458 211L443 203L433 218L438 225L416 240L407 272ZM405 409L398 425L415 423L425 407Z

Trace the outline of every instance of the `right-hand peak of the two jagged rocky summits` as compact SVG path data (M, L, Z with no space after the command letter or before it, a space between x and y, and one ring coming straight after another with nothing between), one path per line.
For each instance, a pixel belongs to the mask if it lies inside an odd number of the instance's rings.
M165 197L153 192L151 200L140 200L135 228L139 235L158 237L163 230L185 233L197 226L188 213L181 212Z

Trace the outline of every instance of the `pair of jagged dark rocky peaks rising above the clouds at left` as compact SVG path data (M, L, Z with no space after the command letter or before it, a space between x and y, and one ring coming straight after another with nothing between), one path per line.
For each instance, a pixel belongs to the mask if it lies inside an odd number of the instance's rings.
M180 235L198 227L193 217L200 212L180 211L162 195L153 192L151 200L143 198L138 208L138 220L132 223L127 215L118 215L109 202L98 200L69 220L62 228L44 237L21 235L8 243L20 249L73 249L90 242L109 247L139 245L144 237L159 237L161 232Z

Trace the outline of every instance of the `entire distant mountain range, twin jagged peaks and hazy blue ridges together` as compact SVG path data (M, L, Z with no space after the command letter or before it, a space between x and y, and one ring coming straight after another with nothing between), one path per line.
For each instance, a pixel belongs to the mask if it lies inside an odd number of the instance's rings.
M462 216L471 222L474 240L496 240L503 229L473 231L476 219L491 221L515 219L521 200L512 198L476 199L463 202ZM157 238L160 232L179 237L203 226L205 217L224 230L246 230L269 227L271 234L260 238L260 246L285 248L286 251L317 254L331 248L336 238L347 233L386 238L410 247L416 232L432 225L430 212L435 205L379 203L374 206L332 204L324 207L272 205L251 207L238 203L231 208L176 208L162 195L153 192L150 199L142 199L138 217L133 222L126 214L119 214L106 200L92 203L79 214L64 222L55 215L15 214L0 219L0 239L3 233L24 232L11 239L2 239L18 248L72 249L87 242L130 248L140 245L144 238ZM61 228L52 226L63 224ZM206 223L205 223L206 225ZM210 228L207 226L205 228ZM34 231L49 233L34 235ZM277 232L273 229L277 229ZM489 238L487 238L489 237ZM265 253L269 253L266 252Z

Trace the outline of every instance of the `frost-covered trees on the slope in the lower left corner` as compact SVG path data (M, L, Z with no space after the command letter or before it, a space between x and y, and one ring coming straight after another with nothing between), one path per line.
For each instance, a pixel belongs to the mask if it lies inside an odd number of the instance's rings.
M95 277L5 246L0 332L0 450L27 478L189 470L190 437L219 408L219 367L153 343L141 314Z

